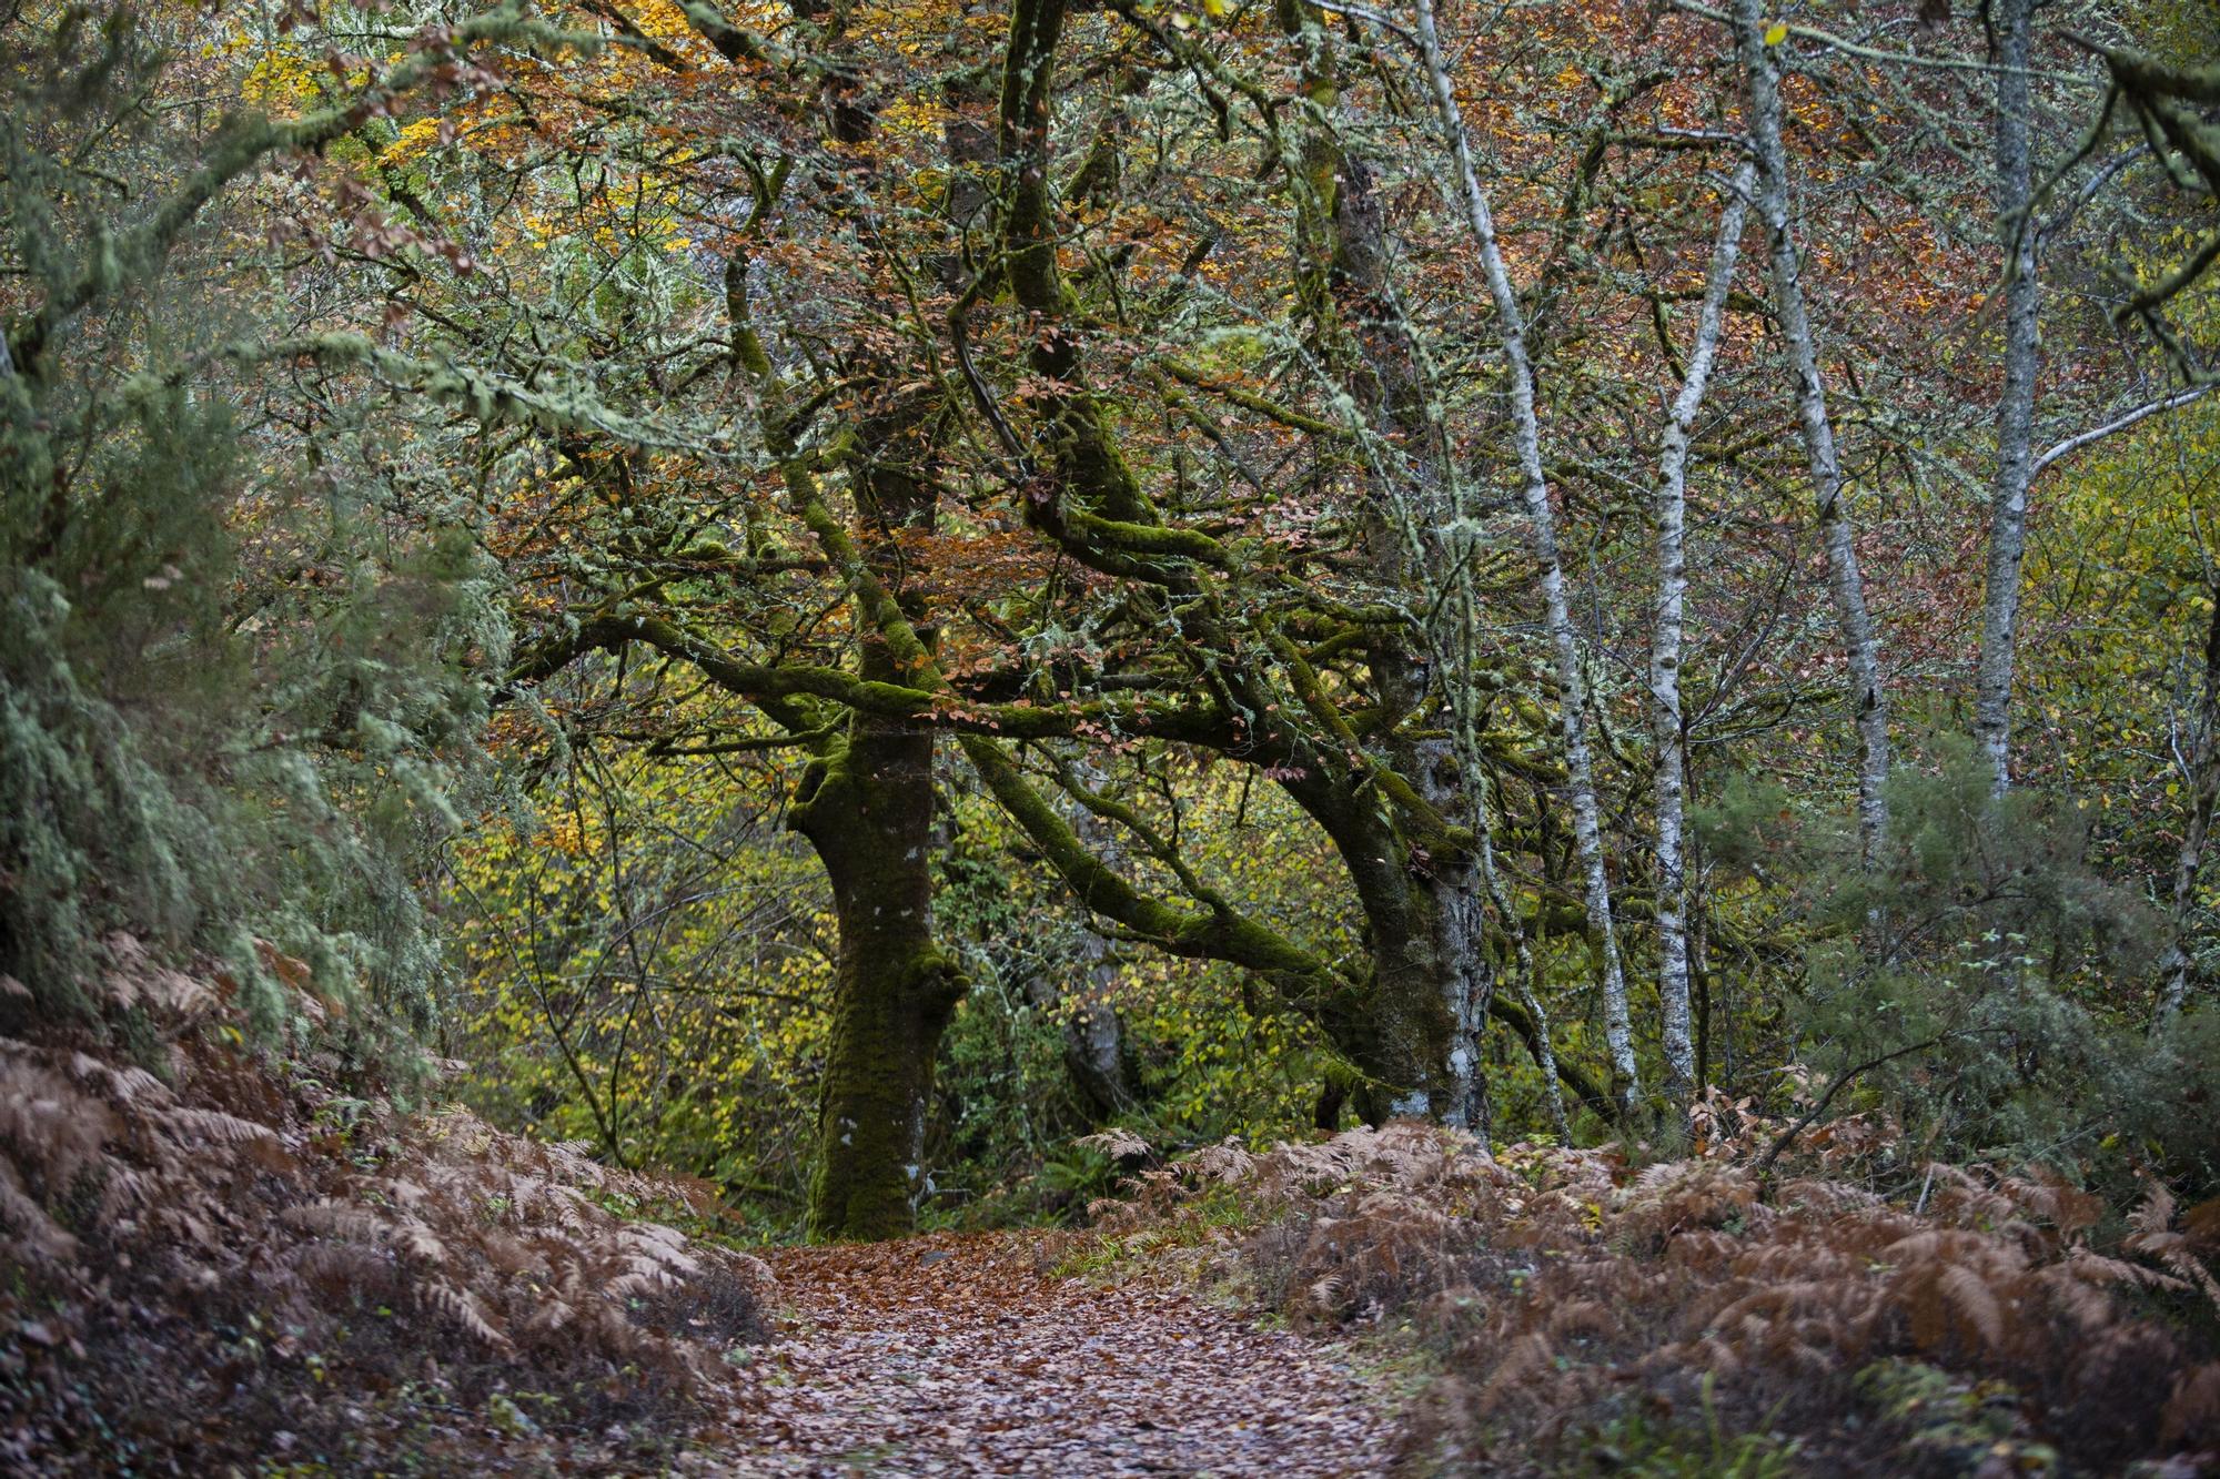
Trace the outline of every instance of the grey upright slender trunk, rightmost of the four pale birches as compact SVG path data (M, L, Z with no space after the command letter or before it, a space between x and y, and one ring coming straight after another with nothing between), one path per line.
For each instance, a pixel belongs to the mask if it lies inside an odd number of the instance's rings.
M2027 484L2036 433L2036 275L2034 149L2027 47L2034 0L1998 0L1996 24L1996 218L2005 255L2005 393L1996 404L1996 480L1989 491L1989 577L1980 606L1980 673L1974 686L1974 737L1996 791L2011 784L2011 664L2018 648L2020 560L2027 553Z

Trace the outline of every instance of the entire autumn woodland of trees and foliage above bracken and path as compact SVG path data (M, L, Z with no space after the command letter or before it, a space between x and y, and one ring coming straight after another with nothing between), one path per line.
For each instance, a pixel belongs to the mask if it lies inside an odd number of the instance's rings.
M2204 22L18 7L0 968L826 1237L1829 1079L2209 1179Z

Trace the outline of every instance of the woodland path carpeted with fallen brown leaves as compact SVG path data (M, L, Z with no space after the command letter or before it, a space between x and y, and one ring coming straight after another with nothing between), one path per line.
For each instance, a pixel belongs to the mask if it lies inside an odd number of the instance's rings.
M773 1255L788 1301L746 1475L1383 1475L1394 1419L1334 1348L1039 1239Z

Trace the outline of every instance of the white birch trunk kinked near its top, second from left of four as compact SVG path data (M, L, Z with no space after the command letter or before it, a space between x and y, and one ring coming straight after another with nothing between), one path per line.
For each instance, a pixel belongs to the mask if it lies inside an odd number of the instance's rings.
M1658 457L1656 535L1658 595L1656 622L1649 635L1649 735L1656 742L1656 811L1658 811L1658 1008L1665 1037L1665 1093L1687 1108L1696 1086L1696 1044L1689 1030L1687 970L1687 839L1683 835L1683 786L1687 777L1687 735L1681 717L1681 635L1687 600L1687 449L1689 429L1712 382L1712 360L1718 355L1718 331L1727 315L1727 289L1734 286L1734 262L1743 249L1743 215L1756 169L1743 164L1727 182L1727 202L1718 215L1718 240L1703 284L1703 309L1696 318L1696 342L1687 355L1681 395L1665 417L1665 451Z

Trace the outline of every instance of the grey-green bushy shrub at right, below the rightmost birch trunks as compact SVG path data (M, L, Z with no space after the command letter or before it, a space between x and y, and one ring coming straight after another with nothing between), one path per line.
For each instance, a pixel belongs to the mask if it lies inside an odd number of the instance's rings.
M1916 751L1874 866L1776 782L1729 782L1694 817L1723 873L1787 884L1774 924L1803 944L1780 1055L1840 1079L1838 1113L1898 1126L1896 1186L1931 1159L2045 1164L2131 1201L2156 1164L2220 1195L2220 1024L2153 1030L2167 919L2091 864L2087 806L1996 795L1960 735Z

